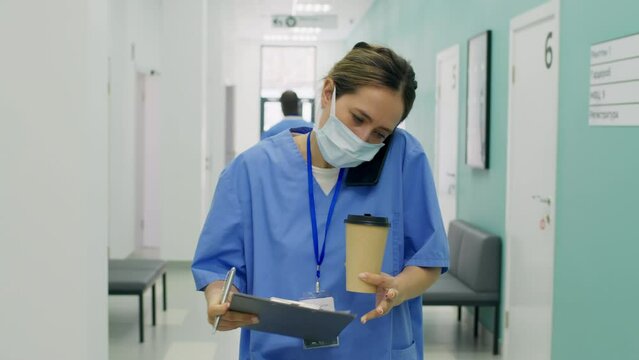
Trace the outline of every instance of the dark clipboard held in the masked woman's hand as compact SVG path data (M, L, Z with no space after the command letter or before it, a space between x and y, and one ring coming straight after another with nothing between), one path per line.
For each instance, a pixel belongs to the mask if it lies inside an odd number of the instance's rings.
M259 324L244 326L245 329L313 341L334 340L355 319L355 315L346 312L312 309L241 293L233 294L229 309L259 317Z

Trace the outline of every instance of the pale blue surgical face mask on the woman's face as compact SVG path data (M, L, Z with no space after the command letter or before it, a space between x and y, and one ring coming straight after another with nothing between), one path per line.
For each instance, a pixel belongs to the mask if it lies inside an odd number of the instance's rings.
M323 127L316 130L317 144L327 163L336 168L355 167L370 161L384 144L370 144L355 135L335 116L336 88L331 111Z

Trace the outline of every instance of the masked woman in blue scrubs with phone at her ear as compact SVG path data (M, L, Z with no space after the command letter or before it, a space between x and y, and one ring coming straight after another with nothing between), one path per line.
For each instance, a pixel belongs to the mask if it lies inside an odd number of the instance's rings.
M358 43L324 80L318 128L261 141L220 176L192 266L209 321L221 315L220 331L259 321L219 304L233 266L233 292L298 300L320 290L358 315L332 347L242 329L241 359L423 358L420 295L446 271L448 242L426 154L397 128L416 88L405 59ZM382 274L360 274L377 294L346 291L349 214L391 224Z

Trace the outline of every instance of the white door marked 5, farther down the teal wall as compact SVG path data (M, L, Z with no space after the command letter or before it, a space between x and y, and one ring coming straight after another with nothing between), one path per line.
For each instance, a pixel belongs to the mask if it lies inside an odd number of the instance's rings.
M448 231L457 217L457 130L459 128L459 46L437 54L435 126L437 197Z

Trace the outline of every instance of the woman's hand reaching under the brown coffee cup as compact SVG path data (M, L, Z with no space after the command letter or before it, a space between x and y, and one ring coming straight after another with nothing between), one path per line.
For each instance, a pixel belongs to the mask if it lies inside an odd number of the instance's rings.
M388 314L393 307L404 302L402 294L398 290L398 282L395 277L385 273L379 275L361 273L359 278L365 283L377 286L375 309L360 318L362 324L366 324L368 320Z

